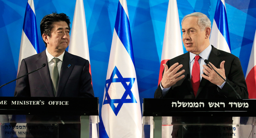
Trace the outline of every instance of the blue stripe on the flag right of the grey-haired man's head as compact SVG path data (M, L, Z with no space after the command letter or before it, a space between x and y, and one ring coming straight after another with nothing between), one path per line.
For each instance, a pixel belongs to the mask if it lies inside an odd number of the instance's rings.
M226 43L228 44L230 51L230 34L228 31L227 17L226 17L226 9L221 0L218 0L217 7L214 15L214 20L217 24L217 27L220 30L220 33L226 39Z

